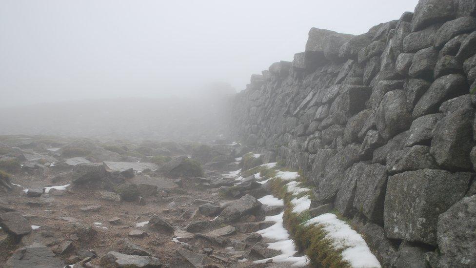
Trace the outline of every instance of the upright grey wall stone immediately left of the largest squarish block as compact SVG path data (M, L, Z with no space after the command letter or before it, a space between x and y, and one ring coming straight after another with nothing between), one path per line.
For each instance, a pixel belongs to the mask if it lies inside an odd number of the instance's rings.
M387 186L387 168L372 164L363 166L362 175L357 179L354 208L377 224L383 223L383 200Z

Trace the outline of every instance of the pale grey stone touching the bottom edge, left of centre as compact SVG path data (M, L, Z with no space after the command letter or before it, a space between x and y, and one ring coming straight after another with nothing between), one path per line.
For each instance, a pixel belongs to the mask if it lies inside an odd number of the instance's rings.
M158 258L149 256L127 255L115 251L109 251L101 257L101 267L114 268L161 268L162 263Z

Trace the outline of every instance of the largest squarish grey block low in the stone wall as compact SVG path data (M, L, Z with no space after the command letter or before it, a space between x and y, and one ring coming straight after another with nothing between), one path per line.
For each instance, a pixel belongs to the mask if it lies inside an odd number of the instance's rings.
M384 208L387 237L436 246L438 215L464 196L472 176L421 169L389 177Z

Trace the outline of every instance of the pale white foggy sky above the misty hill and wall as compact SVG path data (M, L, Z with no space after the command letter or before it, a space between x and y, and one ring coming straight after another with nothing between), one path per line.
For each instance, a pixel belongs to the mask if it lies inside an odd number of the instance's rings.
M361 34L417 0L0 0L0 106L244 89L311 27Z

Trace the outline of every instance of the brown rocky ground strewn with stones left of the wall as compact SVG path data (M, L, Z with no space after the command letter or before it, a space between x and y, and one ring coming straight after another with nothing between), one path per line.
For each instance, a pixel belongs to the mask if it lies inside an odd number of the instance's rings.
M261 164L246 147L0 140L1 267L289 266L253 263L280 254L256 231L283 207L227 175Z

